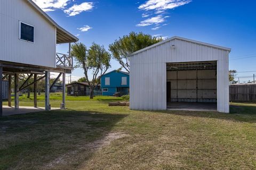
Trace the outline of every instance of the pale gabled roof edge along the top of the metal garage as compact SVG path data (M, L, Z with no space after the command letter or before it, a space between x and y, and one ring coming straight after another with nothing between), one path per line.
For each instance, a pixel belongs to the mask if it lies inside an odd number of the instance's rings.
M140 49L137 52L134 52L134 53L130 54L130 56L133 56L135 54L141 53L141 52L143 52L145 50L148 50L150 48L162 45L162 44L167 43L167 42L169 42L171 40L174 40L174 39L179 39L179 40L187 41L187 42L190 42L190 43L195 43L195 44L200 44L200 45L204 45L204 46L208 46L208 47L213 47L213 48L218 48L218 49L222 49L222 50L227 50L228 52L231 51L231 48L222 47L222 46L213 45L213 44L209 44L209 43L203 43L201 41L196 41L196 40L192 40L192 39L187 39L187 38L182 38L182 37L174 36L174 37L171 37L169 39L163 40L163 41L161 41L159 43L156 43L156 44L153 44L151 46L148 46L146 48Z

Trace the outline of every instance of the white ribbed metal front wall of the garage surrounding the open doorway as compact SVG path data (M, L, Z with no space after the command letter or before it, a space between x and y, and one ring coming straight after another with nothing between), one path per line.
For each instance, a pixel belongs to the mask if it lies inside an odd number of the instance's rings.
M171 48L175 45L175 48ZM217 61L217 109L229 112L228 50L173 39L130 58L130 108L166 109L166 63Z

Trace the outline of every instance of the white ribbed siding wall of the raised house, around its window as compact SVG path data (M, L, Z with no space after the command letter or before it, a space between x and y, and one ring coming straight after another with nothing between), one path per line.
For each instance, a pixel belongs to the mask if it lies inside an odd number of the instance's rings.
M19 21L34 26L34 43L19 39ZM55 27L25 0L0 1L0 61L55 67Z

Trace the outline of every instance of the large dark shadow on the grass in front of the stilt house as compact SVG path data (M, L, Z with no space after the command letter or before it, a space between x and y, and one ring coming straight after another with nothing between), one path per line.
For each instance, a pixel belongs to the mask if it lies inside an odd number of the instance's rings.
M2 117L0 169L78 167L126 116L68 110Z

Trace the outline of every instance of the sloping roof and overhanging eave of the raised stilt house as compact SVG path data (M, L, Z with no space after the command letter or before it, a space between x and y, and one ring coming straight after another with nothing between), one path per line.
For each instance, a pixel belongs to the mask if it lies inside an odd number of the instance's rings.
M32 0L26 0L31 6L33 6L41 15L56 27L56 43L75 43L79 39L72 35L67 30L63 29L58 25L49 15L47 15L39 6L37 6Z

